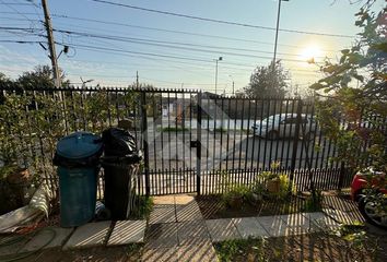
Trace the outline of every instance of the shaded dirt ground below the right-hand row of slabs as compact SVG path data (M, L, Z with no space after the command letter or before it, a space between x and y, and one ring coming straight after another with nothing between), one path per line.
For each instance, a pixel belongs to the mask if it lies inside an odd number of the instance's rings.
M377 243L376 243L377 240ZM337 236L321 234L241 240L216 243L221 261L387 261L387 239L368 235L363 247L355 248Z

